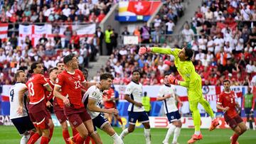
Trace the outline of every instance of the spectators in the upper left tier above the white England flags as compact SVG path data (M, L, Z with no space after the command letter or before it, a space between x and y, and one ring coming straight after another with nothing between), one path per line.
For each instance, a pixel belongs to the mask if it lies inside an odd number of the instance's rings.
M0 21L6 23L100 23L113 1L3 1Z

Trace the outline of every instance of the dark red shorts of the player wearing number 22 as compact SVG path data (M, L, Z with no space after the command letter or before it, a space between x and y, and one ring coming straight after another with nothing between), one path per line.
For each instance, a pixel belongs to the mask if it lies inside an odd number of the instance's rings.
M70 124L76 128L80 126L81 123L84 121L88 121L91 119L89 113L87 113L86 109L84 107L80 109L73 109L73 113L70 113L70 109L68 109L68 121Z

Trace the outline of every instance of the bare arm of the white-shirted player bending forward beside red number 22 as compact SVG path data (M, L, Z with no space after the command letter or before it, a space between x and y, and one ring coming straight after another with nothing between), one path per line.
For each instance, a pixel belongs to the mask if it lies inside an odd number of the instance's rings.
M90 111L95 111L95 112L102 112L102 113L111 113L111 114L117 114L118 111L117 109L100 109L98 106L96 106L96 101L94 99L88 99L88 104L87 108Z

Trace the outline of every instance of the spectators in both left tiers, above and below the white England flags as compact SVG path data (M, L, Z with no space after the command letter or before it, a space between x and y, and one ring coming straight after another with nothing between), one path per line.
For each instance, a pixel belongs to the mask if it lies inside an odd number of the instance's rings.
M63 33L65 42L62 43L59 25L100 23L114 2L112 0L94 2L92 0L1 1L3 4L0 4L0 23L9 23L10 31L8 38L0 38L0 84L12 84L16 70L28 72L31 63L35 61L44 63L47 75L47 70L55 67L56 63L62 61L63 56L70 52L79 55L78 60L82 68L90 67L89 61L97 60L96 55L100 47L97 31L95 38L82 39L76 31L67 27ZM51 23L55 36L46 38L43 34L42 38L35 42L36 46L28 36L18 43L18 33L14 29L23 23Z

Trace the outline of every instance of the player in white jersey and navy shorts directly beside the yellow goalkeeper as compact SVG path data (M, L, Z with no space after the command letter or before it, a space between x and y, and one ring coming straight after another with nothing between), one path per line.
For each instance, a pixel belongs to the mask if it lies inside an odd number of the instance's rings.
M176 106L176 101L178 101L181 106L182 103L178 96L175 95L174 86L169 83L168 76L169 74L164 77L164 85L159 89L159 94L158 97L156 97L156 101L163 101L164 113L166 113L170 123L170 127L166 133L166 138L164 139L163 144L169 143L171 133L174 133L172 144L177 144L178 136L181 133L182 123L181 115Z

